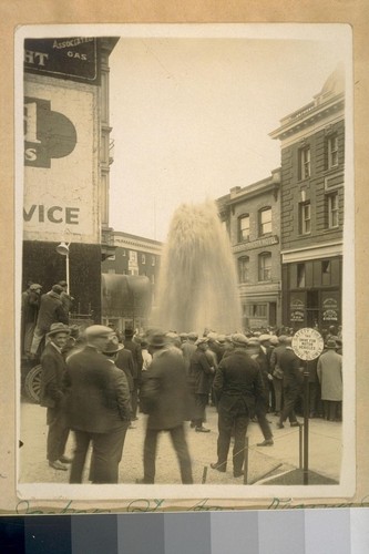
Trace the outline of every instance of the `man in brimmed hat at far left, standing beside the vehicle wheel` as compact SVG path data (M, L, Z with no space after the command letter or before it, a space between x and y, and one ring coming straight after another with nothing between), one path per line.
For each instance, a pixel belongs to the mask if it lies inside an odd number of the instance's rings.
M52 324L48 332L49 342L41 356L41 389L40 404L48 408L48 460L54 470L66 471L64 463L71 460L64 455L69 435L63 402L65 400L65 361L62 350L70 336L70 329L64 324Z

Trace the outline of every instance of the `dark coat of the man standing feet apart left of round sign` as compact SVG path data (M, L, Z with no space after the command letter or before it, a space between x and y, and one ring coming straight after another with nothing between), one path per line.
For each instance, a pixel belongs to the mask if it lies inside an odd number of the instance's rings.
M236 348L223 358L216 370L214 392L219 410L232 411L239 400L252 413L256 401L263 396L264 386L258 365L244 349Z

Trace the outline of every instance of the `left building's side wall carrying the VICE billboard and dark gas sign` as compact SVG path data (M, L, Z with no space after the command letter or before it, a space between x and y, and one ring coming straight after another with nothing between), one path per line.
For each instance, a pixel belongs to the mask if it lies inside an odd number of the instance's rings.
M76 317L101 320L107 222L109 55L114 38L24 40L22 286L70 281ZM104 237L104 238L103 238ZM65 256L57 252L63 243Z

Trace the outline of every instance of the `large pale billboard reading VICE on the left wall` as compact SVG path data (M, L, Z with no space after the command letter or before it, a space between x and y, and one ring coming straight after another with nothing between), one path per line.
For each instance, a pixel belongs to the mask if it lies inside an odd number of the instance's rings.
M24 82L23 238L100 243L98 90Z

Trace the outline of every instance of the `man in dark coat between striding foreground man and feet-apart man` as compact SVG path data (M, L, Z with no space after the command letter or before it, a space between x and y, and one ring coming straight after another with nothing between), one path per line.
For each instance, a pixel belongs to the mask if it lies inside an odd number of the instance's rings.
M197 349L192 355L189 363L188 380L192 392L195 394L195 417L193 424L197 433L208 433L209 429L204 427L205 408L208 402L208 394L212 389L214 369L206 356L208 339L202 337L196 341Z

